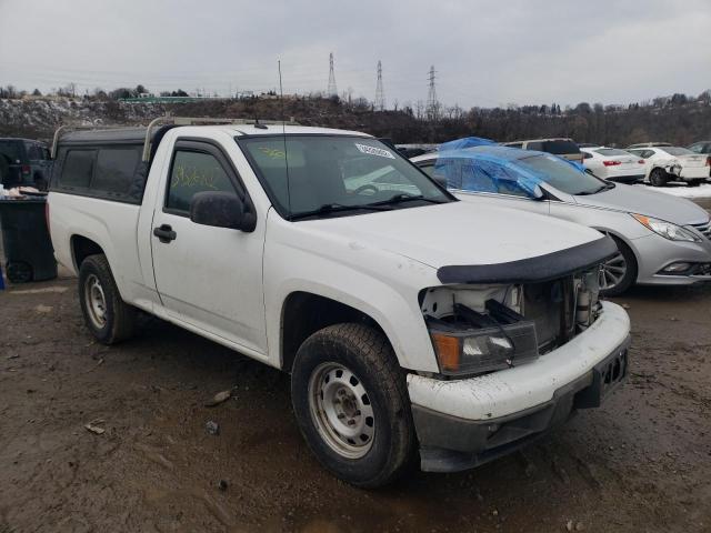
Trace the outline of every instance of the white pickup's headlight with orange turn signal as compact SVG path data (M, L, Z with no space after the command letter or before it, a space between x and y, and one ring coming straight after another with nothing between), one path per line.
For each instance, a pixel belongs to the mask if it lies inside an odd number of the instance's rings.
M440 371L445 375L501 370L538 358L532 321L464 331L432 326L430 335Z

